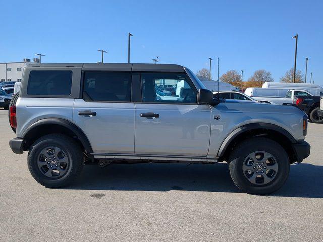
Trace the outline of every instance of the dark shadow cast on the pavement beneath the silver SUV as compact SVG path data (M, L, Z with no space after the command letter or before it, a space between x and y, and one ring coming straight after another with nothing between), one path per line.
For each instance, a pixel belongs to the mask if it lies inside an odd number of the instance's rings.
M270 196L323 198L322 177L323 166L294 164L286 184ZM241 192L233 184L226 163L87 165L80 179L65 189Z

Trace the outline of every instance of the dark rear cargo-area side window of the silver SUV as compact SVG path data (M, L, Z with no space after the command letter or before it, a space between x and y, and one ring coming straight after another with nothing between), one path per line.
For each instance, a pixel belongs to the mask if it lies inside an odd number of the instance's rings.
M70 95L72 71L31 71L27 94L29 95Z

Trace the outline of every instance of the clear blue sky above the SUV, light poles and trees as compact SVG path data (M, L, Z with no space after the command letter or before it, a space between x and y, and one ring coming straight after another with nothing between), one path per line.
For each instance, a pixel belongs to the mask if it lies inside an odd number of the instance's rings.
M323 85L323 1L4 1L0 62L46 56L43 62L176 63L212 75L257 69L275 81L294 65L305 72L305 57L315 83Z

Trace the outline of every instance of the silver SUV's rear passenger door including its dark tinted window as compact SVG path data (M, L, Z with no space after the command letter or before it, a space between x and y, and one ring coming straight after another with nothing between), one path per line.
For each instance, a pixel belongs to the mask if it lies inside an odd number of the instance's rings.
M73 121L95 153L133 154L135 106L131 73L85 71L82 99L75 99Z

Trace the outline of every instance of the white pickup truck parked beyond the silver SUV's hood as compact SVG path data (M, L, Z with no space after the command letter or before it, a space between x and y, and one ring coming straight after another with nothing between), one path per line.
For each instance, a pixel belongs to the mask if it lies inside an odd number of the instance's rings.
M293 89L293 90L288 90L286 92L285 97L255 97L252 96L253 99L258 100L258 101L268 101L273 104L277 105L282 105L283 103L295 103L296 99L294 98L295 96L313 96L306 90L301 90L301 89Z

